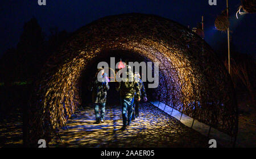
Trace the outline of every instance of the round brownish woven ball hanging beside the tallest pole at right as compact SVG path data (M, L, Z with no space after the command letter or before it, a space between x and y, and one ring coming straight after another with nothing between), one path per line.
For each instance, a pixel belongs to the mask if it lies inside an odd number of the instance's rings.
M226 10L222 11L215 19L214 25L219 31L226 31L229 27L229 19L226 16Z

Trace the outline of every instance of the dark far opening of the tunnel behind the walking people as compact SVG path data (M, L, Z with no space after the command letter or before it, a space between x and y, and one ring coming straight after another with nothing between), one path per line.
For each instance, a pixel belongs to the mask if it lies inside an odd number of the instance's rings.
M110 60L110 58L112 58L112 60ZM92 104L92 97L90 92L92 88L92 81L94 80L94 77L96 76L96 73L97 73L97 65L99 64L99 62L102 62L102 61L107 62L109 67L113 67L113 68L107 68L109 69L109 72L107 73L109 81L113 80L109 82L110 89L108 90L108 95L107 95L107 102L106 102L107 106L109 104L119 105L118 92L115 90L115 85L116 85L115 76L116 75L118 76L117 72L119 71L119 69L117 68L118 62L122 61L123 64L127 62L138 62L138 63L146 62L146 66L147 66L147 62L151 62L148 58L143 57L138 53L131 52L131 51L124 51L119 49L101 51L101 53L99 53L99 55L96 58L94 58L92 62L89 62L89 64L87 64L86 67L90 69L84 69L84 71L82 72L82 76L81 76L82 87L80 89L82 106ZM111 61L112 62L114 61L115 66L112 66L112 64L110 64ZM142 68L140 68L140 71L141 70ZM112 74L113 77L111 77L110 73L113 73ZM114 82L114 79L115 79L115 82ZM144 82L144 87L147 90L147 96L150 97L150 99L155 99L155 96L152 95L152 91L155 91L156 89L148 89L148 83L152 83L152 82Z

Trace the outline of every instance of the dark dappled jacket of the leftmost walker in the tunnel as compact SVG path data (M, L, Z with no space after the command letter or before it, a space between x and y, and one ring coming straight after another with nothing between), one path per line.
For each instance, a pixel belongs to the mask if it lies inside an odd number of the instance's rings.
M93 103L105 103L107 90L109 90L109 83L106 81L100 82L96 78L93 82L93 87L92 87Z

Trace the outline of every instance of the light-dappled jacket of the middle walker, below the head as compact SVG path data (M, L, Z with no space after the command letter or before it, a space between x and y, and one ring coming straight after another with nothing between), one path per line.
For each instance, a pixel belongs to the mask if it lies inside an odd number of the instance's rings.
M119 90L120 96L123 98L133 98L134 95L136 98L141 97L141 91L139 89L139 83L135 81L133 72L126 73L127 78L132 79L132 82L118 82L116 89Z

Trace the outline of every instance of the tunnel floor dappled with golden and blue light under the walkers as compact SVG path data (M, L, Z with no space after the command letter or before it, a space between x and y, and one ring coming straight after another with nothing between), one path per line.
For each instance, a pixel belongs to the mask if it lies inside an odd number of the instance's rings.
M73 115L50 147L209 147L207 137L151 104L141 104L141 114L125 131L119 106L106 107L105 123L94 124L93 108Z

